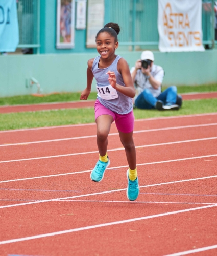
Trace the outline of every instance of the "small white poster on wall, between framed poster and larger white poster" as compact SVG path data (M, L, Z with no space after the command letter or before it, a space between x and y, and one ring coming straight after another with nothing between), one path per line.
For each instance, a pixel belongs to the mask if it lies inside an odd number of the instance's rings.
M86 28L86 5L87 0L77 0L76 29Z

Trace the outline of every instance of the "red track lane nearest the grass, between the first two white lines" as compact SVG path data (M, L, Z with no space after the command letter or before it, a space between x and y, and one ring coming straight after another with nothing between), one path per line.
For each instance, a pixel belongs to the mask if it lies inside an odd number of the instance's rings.
M201 115L186 115L164 118L150 118L135 120L135 130L156 129L163 127L214 123L217 122L217 113L201 114ZM42 127L26 130L9 130L0 131L0 144L10 144L19 142L30 142L38 140L59 139L68 137L80 137L84 135L95 135L96 125L81 124L81 125L62 125L56 127ZM111 133L117 132L116 126L113 123Z

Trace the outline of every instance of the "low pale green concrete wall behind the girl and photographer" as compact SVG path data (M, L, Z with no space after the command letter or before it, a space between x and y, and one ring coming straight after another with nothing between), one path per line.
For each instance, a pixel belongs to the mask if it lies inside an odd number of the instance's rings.
M134 66L141 52L118 52ZM0 55L0 97L36 93L28 86L31 77L37 79L42 93L77 92L86 86L87 60L93 53ZM154 52L155 63L165 70L163 84L196 85L217 83L217 50L205 52ZM93 82L92 86L95 90Z

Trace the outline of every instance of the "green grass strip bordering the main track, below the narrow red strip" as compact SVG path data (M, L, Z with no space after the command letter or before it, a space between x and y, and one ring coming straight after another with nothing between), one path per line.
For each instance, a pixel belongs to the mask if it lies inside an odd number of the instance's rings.
M136 119L217 112L217 99L183 101L179 111L135 109ZM94 122L94 109L65 109L0 114L0 130Z

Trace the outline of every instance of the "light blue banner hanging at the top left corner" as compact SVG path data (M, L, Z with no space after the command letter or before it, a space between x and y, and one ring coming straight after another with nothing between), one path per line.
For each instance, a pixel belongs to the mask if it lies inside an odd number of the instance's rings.
M18 44L16 0L0 0L0 52L14 52Z

